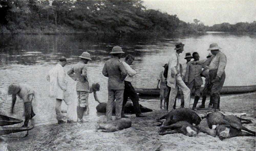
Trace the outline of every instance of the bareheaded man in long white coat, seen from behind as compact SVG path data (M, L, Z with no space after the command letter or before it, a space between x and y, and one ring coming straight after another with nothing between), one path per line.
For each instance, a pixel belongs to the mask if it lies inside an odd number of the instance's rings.
M68 99L65 99L65 93L67 90L66 87L66 74L63 69L64 66L67 64L67 59L65 57L60 57L58 64L54 68L52 68L49 71L49 74L46 76L46 79L50 82L49 87L49 96L50 98L56 99L56 116L58 120L58 124L65 123L65 121L62 120L61 116L61 102L64 100L64 102L68 105L68 111L67 111L67 122L73 123L75 121L71 120L70 111L72 110L72 102Z

